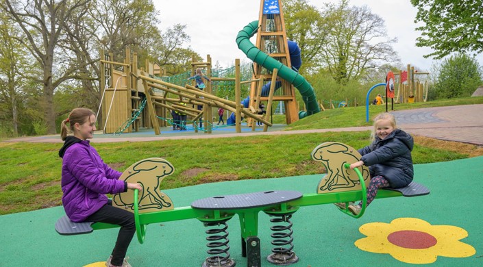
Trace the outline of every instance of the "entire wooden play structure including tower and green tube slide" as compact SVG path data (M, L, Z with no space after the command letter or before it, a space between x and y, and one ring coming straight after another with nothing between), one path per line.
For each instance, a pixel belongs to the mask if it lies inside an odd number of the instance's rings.
M257 34L256 44L249 37ZM198 90L194 81L186 84L171 84L160 76L162 68L156 64L145 62L145 67L138 69L136 54L126 51L124 62L113 62L112 55L101 51L101 88L103 89L102 125L104 133L138 131L140 127L152 127L160 134L160 126L170 111L186 114L195 122L203 118L203 131L211 133L213 125L213 107L222 107L234 114L236 132L241 132L241 120L247 118L248 125L255 130L256 121L264 124L263 131L271 126L271 112L263 112L261 102L267 102L267 110L271 110L273 101L284 102L286 123L290 124L320 111L314 90L304 77L299 75L301 65L300 49L296 42L288 41L284 23L282 3L280 1L260 0L259 20L253 21L236 37L238 48L253 60L251 79L240 78L240 60L235 60L235 77L212 77L212 59L207 56L206 62L192 60L191 76L196 68L206 69L207 77L212 81L234 82L235 99L230 101L214 96L212 86ZM294 66L291 60L297 62ZM122 69L122 71L119 71ZM240 104L242 84L249 84L249 97ZM306 105L300 111L295 98L295 87L299 90ZM200 111L195 106L203 105ZM193 123L195 131L196 123ZM120 129L121 128L121 129Z

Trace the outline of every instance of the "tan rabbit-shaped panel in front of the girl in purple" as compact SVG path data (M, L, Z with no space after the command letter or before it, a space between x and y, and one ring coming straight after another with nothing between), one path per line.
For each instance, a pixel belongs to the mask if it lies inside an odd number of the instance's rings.
M143 192L138 195L139 213L159 212L174 209L173 201L159 189L162 179L174 170L173 165L166 160L151 157L132 164L119 179L143 186ZM116 194L112 202L115 207L134 212L134 191Z

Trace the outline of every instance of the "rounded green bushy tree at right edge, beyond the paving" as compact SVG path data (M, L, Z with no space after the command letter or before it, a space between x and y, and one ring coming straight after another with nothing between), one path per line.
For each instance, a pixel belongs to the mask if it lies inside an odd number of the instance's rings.
M482 84L482 67L469 55L443 60L435 84L436 98L470 97Z

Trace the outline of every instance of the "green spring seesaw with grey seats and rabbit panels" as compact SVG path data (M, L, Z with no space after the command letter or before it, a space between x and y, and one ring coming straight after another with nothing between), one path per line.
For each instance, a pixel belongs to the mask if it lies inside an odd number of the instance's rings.
M235 266L230 259L227 220L238 214L242 234L242 256L247 257L247 266L261 266L260 239L258 238L258 214L264 212L271 222L284 224L271 227L275 246L267 260L275 265L288 265L298 261L293 252L292 223L290 218L300 207L331 203L346 203L341 212L360 218L367 207L369 169L366 166L351 170L349 165L360 159L356 149L338 142L325 142L312 151L312 159L322 162L327 169L317 192L302 194L297 191L265 191L249 194L212 196L193 201L189 207L174 207L173 201L160 191L162 179L174 172L171 163L162 158L148 158L132 164L120 179L141 183L143 192L134 190L114 195L112 205L134 213L136 236L143 244L147 225L174 220L197 218L206 227L208 255L202 266ZM377 199L395 196L421 196L429 194L425 186L412 182L399 189L384 188L377 192ZM347 209L347 203L362 201L360 214L355 216ZM91 233L93 230L118 227L106 223L73 223L67 216L55 223L61 235Z

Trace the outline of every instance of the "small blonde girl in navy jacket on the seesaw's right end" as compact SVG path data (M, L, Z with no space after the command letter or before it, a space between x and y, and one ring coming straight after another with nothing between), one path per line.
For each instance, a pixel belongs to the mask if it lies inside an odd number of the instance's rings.
M371 135L373 142L359 149L362 157L350 168L362 165L369 167L371 183L367 188L367 205L373 201L379 188L404 188L409 185L414 175L411 151L414 146L412 136L397 129L393 114L382 113L374 118L374 129ZM345 209L345 203L335 203ZM362 203L349 203L349 211L358 215Z

